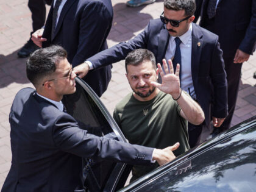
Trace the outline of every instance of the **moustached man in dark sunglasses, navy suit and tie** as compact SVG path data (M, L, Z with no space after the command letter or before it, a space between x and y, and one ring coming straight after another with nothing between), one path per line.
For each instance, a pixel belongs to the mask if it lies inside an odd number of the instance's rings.
M227 80L222 51L217 35L192 23L195 10L194 0L165 0L161 20L151 20L141 34L127 43L116 44L90 57L88 62L74 68L75 73L85 76L89 68L118 62L138 48L152 51L157 63L174 57L172 62L180 63L181 88L201 105L205 126L210 126L211 119L216 127L220 126L227 116ZM180 43L178 46L176 41ZM189 124L188 129L192 148L199 144L202 125Z

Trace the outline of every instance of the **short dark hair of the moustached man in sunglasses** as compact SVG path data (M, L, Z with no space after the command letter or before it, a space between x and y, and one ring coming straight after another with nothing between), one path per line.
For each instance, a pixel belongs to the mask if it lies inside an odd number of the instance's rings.
M192 16L196 11L196 2L194 0L165 0L163 5L166 9L185 10L186 16Z

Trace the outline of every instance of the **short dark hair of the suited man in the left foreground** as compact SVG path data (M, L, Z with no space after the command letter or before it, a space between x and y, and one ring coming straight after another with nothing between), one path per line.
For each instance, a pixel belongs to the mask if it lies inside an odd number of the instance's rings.
M41 84L43 77L54 73L60 60L67 57L66 50L61 46L52 45L48 48L37 49L26 62L27 79L36 87Z

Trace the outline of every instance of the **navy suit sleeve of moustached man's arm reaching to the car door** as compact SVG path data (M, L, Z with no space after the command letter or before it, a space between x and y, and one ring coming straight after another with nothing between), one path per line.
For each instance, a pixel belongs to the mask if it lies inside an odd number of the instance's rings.
M147 47L150 29L151 23L146 26L143 32L138 34L132 40L116 44L112 48L101 51L93 57L90 57L88 60L93 64L93 68L100 68L102 66L119 62L120 60L125 59L126 55L134 49L143 49Z

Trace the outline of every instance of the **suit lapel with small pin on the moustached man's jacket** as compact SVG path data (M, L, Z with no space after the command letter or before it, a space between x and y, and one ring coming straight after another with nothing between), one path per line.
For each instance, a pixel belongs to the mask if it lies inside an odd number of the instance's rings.
M201 29L194 23L192 23L192 27L193 28L192 28L191 74L192 74L193 82L197 82L197 77L199 73L199 63L200 63L202 46L204 41L202 40Z

